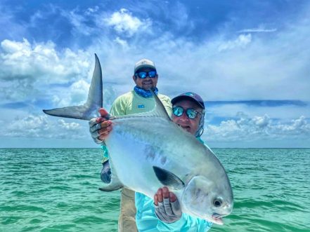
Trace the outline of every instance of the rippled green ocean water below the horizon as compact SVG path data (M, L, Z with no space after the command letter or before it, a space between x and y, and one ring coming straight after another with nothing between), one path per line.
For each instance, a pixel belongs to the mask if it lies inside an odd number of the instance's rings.
M214 149L235 198L210 231L310 231L310 149ZM117 231L101 149L0 149L0 231Z

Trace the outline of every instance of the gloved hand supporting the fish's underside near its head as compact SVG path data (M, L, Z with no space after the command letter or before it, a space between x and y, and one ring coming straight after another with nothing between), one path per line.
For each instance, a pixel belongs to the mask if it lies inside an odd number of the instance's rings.
M158 189L154 195L155 214L161 221L172 223L182 216L179 200L167 187Z

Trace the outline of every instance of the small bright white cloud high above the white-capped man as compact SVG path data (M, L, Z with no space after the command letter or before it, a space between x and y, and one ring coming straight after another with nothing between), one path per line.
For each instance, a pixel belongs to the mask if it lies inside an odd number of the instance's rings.
M110 15L109 18L105 18L104 21L112 26L119 34L124 34L129 37L133 36L138 29L145 31L152 25L150 19L140 20L134 17L132 13L125 8L112 13L112 15Z

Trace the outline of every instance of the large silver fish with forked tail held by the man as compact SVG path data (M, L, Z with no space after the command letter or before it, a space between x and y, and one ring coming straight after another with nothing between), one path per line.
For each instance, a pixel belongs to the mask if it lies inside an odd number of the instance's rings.
M103 107L101 66L96 66L86 103L82 106L44 110L65 118L90 120ZM154 95L155 109L143 114L110 116L113 130L108 147L112 179L101 191L126 186L153 198L168 186L176 194L182 212L216 224L233 210L233 192L217 156L193 135L173 123Z

